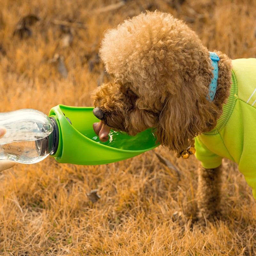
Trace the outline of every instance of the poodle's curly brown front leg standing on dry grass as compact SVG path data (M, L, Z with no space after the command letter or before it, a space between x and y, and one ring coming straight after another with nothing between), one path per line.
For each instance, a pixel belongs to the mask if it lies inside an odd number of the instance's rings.
M213 220L220 213L221 165L214 169L198 169L198 219Z

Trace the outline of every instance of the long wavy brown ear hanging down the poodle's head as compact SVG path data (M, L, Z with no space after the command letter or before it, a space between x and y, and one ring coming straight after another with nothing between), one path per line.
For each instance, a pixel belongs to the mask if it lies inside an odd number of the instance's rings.
M166 99L156 126L156 137L162 145L177 153L186 150L197 134L216 121L215 106L204 95L185 86Z

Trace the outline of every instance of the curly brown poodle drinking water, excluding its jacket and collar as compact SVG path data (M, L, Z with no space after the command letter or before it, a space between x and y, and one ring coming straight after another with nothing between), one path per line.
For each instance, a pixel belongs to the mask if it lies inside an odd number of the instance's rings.
M184 22L147 12L108 30L100 57L113 82L93 95L94 115L101 120L94 124L95 132L106 141L110 127L130 135L153 127L162 145L187 152L197 135L215 128L229 97L231 60L215 53L220 59L218 86L210 100L209 51ZM211 219L220 210L221 170L215 167L199 170L200 218Z

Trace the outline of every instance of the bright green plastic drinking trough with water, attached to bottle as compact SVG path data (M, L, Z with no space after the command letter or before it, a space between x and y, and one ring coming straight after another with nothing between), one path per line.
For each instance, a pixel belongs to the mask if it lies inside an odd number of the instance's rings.
M57 121L59 145L53 157L59 163L97 165L118 162L156 148L152 129L129 136L109 133L109 140L101 142L92 124L99 120L92 114L92 107L58 105L49 116ZM69 122L70 121L70 122Z

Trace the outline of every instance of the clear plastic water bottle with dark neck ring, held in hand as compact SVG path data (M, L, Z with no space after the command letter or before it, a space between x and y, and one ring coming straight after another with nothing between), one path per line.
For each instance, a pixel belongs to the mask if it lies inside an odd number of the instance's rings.
M34 164L58 147L58 125L53 117L35 109L0 113L0 126L6 134L0 139L0 160Z

